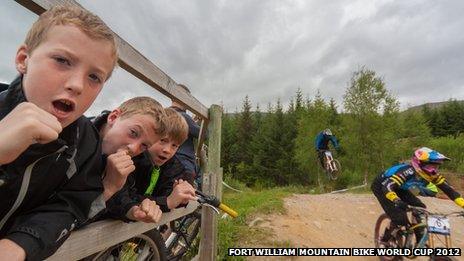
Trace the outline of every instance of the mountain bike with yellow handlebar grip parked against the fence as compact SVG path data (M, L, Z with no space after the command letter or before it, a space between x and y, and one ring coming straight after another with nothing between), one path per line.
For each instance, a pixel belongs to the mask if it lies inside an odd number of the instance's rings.
M237 212L221 203L215 196L206 195L198 190L196 194L197 201L200 203L198 209L180 220L172 222L172 232L166 241L159 229L153 229L109 247L86 260L180 260L198 235L201 224L200 208L202 206L211 207L218 214L218 209L221 209L231 217L238 216Z

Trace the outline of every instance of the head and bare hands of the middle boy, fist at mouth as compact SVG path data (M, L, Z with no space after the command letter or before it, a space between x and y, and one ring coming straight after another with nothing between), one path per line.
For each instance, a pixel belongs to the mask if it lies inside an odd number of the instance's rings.
M135 170L132 157L151 147L166 133L166 114L163 107L150 97L135 97L109 112L104 111L93 121L102 139L106 158L103 179L105 200L125 184ZM158 222L161 211L154 201L144 200L134 206L133 220Z

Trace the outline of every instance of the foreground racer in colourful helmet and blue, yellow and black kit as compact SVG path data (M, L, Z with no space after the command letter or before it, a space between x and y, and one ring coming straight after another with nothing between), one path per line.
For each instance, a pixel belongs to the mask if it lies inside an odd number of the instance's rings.
M379 200L385 213L392 221L382 241L388 242L392 232L409 225L406 215L408 205L425 208L425 204L411 193L413 187L419 188L422 194L436 195L436 188L442 190L458 206L464 208L464 199L438 173L438 167L450 160L443 154L422 147L414 151L411 163L394 165L378 175L371 185L371 190ZM420 235L416 235L420 238Z

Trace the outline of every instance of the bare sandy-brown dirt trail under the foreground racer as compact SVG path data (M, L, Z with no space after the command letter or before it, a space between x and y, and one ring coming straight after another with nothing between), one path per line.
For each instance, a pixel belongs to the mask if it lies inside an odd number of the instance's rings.
M429 210L458 211L450 200L421 198ZM287 214L261 216L256 226L271 229L270 241L292 247L373 247L373 230L380 205L370 194L293 195L284 200ZM464 219L452 218L453 246L464 248ZM264 247L264 246L263 246ZM268 260L250 258L249 260ZM273 260L378 260L368 257L276 258ZM417 260L417 259L416 259ZM460 260L464 260L463 257Z

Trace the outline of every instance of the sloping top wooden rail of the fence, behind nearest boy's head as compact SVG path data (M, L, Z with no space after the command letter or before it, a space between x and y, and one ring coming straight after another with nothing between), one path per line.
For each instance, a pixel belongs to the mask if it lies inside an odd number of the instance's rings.
M79 5L73 0L15 0L17 3L40 15L45 10L59 4ZM185 105L190 111L204 119L208 118L208 109L201 104L190 93L185 92L177 83L159 69L155 64L150 62L145 56L139 53L134 47L116 36L116 42L119 50L119 65L135 77L144 81L146 84L155 88L162 94L171 99L176 99Z

